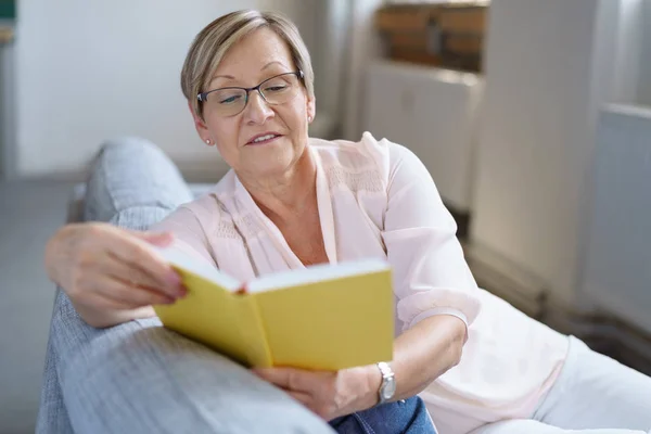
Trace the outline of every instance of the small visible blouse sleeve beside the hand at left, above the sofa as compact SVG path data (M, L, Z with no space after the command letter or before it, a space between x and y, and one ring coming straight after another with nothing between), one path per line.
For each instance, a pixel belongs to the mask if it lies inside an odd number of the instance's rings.
M204 227L196 214L187 205L181 205L171 212L163 220L153 225L151 230L154 232L171 232L174 234L173 248L217 267L209 253Z

